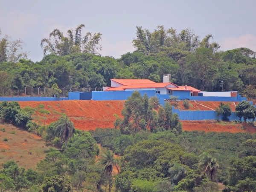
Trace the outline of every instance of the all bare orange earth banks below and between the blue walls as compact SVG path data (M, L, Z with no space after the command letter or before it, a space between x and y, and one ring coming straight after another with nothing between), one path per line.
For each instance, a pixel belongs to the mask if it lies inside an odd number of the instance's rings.
M68 100L68 101L45 101L45 102L19 102L21 108L26 106L37 108L39 104L44 105L44 109L51 114L42 114L38 110L32 116L35 122L41 125L58 120L62 113L67 114L75 125L75 128L81 130L95 130L95 128L113 128L113 122L116 116L122 117L122 108L125 101L93 101L93 100ZM238 102L223 102L230 105L231 110L235 111ZM220 102L202 102L189 101L189 109L184 108L183 101L179 101L177 107L180 110L201 110L210 111L220 105ZM201 104L201 105L199 105ZM202 106L204 105L204 106ZM208 108L207 108L208 107ZM211 109L209 109L211 108ZM256 129L248 124L218 123L211 121L181 121L185 131L228 131L255 133Z

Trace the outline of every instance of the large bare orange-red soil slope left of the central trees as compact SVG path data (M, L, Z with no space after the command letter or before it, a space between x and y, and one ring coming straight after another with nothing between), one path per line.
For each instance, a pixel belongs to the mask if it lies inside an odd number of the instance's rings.
M42 114L36 111L32 116L36 122L48 125L58 120L61 113L67 114L75 125L75 128L81 130L94 130L95 128L113 128L113 122L116 117L122 116L123 101L49 101L49 102L19 102L21 108L26 106L37 108L43 104L45 110L51 114Z

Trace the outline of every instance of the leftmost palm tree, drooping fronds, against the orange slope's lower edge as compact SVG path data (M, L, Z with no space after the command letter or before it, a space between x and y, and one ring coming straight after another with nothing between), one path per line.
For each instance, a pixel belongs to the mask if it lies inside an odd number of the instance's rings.
M53 125L56 128L55 135L60 137L61 141L66 142L67 147L67 141L74 135L75 128L73 122L67 116L61 116Z

